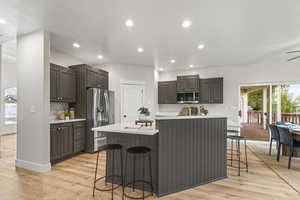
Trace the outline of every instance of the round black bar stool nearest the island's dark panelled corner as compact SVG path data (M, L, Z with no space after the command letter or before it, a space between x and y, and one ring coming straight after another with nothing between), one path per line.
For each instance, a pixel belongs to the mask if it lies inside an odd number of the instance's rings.
M132 155L133 156L133 177L132 177L132 182L127 183L127 160L128 160L128 155ZM142 180L136 180L135 177L135 169L136 169L136 157L137 156L141 156L143 159L143 166L142 166L142 174L143 174L143 179ZM149 176L150 176L150 181L146 181L145 180L145 160L148 157L149 160ZM126 151L126 158L125 158L125 170L124 170L125 174L124 174L124 187L123 187L123 199L124 197L128 197L130 199L145 199L149 196L153 196L153 182L152 182L152 167L151 167L151 149L148 147L144 147L144 146L136 146L136 147L131 147L128 148ZM133 197L130 196L128 194L126 194L125 192L125 187L131 186L132 190L135 190L135 185L137 183L142 183L142 191L143 191L143 195L140 197ZM149 193L147 196L145 196L145 184L149 185L151 188L151 193Z

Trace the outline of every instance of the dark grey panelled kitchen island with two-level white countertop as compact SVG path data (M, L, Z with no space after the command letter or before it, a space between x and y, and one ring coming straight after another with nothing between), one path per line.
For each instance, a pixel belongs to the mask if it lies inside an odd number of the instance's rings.
M105 132L108 143L121 144L124 154L132 146L151 148L153 186L157 196L227 177L226 117L157 117L155 127L139 128L132 123L93 130ZM139 161L137 176L142 174ZM128 163L131 165L132 161ZM128 169L131 169L130 165ZM108 165L109 171L110 168ZM148 171L147 165L145 170ZM131 181L132 172L126 173Z

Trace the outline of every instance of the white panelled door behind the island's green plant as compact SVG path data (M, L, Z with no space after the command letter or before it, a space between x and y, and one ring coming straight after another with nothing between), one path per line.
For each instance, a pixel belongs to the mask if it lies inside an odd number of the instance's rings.
M142 84L121 84L121 122L138 119L138 109L144 105L144 93Z

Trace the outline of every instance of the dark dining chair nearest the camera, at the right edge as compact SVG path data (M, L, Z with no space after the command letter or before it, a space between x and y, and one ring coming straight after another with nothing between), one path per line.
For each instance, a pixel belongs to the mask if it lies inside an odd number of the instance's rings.
M294 148L300 148L300 142L296 141L294 139L293 133L290 131L288 127L283 128L277 126L278 132L279 132L279 147L277 151L277 161L279 161L280 157L280 150L282 145L287 145L289 148L289 163L288 168L291 168L291 159L294 154Z

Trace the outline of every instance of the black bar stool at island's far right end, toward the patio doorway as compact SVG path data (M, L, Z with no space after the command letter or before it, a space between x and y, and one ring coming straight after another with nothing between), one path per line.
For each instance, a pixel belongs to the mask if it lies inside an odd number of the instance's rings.
M245 169L248 172L248 157L247 157L247 139L242 137L242 136L236 136L236 135L230 135L227 136L227 139L231 140L231 148L230 148L230 158L227 159L228 161L230 161L230 167L233 168L238 168L238 176L241 175L241 169ZM241 143L240 141L244 141L244 145L245 145L245 161L241 160ZM236 143L236 149L233 149L233 142ZM236 152L234 154L234 152ZM233 156L237 156L237 159L233 158ZM233 162L237 162L238 166L234 165ZM243 164L244 166L241 166L241 164Z

